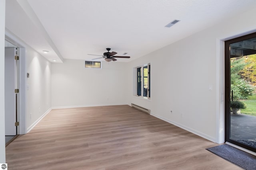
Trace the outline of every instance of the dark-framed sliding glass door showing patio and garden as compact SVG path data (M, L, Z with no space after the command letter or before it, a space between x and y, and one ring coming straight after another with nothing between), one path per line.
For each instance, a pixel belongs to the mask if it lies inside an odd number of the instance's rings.
M225 41L226 141L256 152L256 33Z

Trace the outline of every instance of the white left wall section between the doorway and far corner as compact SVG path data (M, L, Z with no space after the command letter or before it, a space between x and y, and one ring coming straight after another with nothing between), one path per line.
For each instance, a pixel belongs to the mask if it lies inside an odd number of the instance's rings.
M26 71L26 129L30 131L51 108L51 63L27 46Z

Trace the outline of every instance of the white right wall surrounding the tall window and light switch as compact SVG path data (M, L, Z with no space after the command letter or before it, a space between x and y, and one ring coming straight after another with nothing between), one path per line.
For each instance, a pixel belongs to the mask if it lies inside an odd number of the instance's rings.
M255 15L256 9L250 10L130 62L128 103L151 109L156 117L206 139L224 142L221 40L251 32L256 28L251 19ZM147 63L151 63L151 100L141 100L132 95L132 68Z

